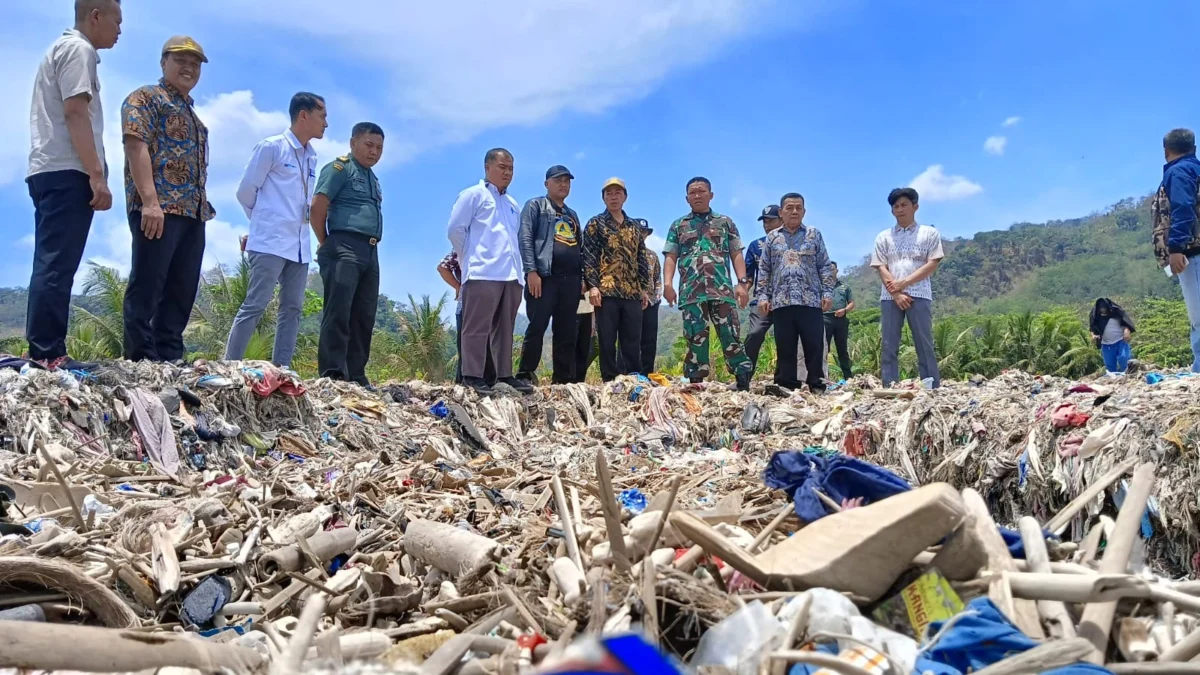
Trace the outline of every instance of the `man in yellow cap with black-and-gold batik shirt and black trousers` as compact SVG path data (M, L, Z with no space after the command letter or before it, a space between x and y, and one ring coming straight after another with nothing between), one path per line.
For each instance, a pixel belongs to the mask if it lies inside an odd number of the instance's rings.
M583 233L583 283L596 309L600 376L605 382L641 370L642 310L649 304L650 270L641 222L625 214L625 181L601 189L605 210ZM617 344L620 359L617 359Z

